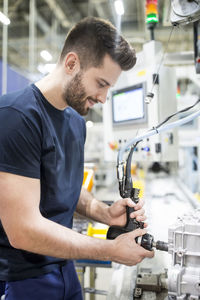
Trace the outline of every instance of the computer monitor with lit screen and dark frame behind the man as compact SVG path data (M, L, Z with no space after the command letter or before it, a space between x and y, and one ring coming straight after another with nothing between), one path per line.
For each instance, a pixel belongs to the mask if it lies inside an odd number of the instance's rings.
M145 83L113 91L113 125L145 123L147 120L145 94Z

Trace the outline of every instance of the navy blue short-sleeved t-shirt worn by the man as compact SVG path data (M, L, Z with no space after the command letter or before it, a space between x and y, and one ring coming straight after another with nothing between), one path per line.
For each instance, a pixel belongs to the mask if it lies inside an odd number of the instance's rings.
M69 228L83 181L85 135L84 119L71 107L56 109L34 84L0 98L0 171L39 178L41 214ZM65 262L13 248L0 223L0 280L38 276Z

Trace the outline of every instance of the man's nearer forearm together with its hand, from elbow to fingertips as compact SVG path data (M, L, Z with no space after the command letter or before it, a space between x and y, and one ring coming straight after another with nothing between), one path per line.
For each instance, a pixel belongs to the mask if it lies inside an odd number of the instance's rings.
M102 240L79 234L42 216L35 221L26 229L21 228L21 237L18 236L14 247L64 259L111 260L129 266L153 256L151 251L135 243L137 236L146 233L142 229L122 234L115 240Z

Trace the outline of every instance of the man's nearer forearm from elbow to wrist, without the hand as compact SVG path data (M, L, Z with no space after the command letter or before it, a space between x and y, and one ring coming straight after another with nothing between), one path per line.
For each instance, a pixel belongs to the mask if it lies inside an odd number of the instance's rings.
M111 241L79 234L42 216L36 221L21 228L13 247L64 259L111 259Z

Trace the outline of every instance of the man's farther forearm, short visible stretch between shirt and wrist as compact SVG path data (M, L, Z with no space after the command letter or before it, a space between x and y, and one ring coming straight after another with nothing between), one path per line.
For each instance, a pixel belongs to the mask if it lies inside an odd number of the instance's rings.
M85 188L82 188L76 211L95 221L110 225L109 206L98 201Z

